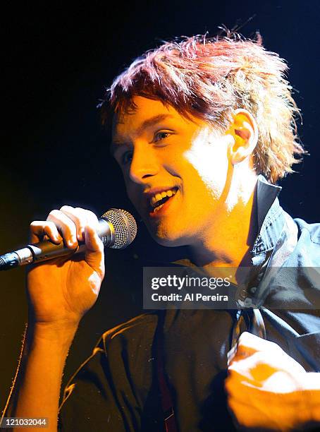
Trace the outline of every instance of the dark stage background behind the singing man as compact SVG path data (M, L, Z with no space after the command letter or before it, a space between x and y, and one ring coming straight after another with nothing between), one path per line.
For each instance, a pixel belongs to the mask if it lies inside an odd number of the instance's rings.
M146 49L180 35L242 25L259 30L264 46L290 66L302 109L300 137L310 156L281 182L281 203L294 217L319 220L319 18L318 1L140 1L18 4L2 17L2 131L0 253L27 241L28 225L53 208L79 205L97 214L130 210L120 173L109 157L96 106L116 74ZM66 9L66 7L68 9ZM135 259L149 240L109 251L108 277L82 321L65 377L90 353L103 330L142 311ZM155 246L154 246L155 247ZM1 273L0 407L17 366L27 319L23 268Z

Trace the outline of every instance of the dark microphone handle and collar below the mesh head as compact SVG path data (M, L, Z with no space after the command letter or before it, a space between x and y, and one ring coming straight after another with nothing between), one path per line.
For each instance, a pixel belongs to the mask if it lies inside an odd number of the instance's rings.
M97 234L100 237L104 247L113 246L115 241L114 228L111 222L106 219L99 219L99 228ZM8 252L0 256L0 270L10 270L19 265L40 263L51 260L59 256L72 256L75 253L85 251L85 242L79 241L75 249L67 248L63 241L60 244L54 244L49 240L39 241L34 244L27 244L22 249Z

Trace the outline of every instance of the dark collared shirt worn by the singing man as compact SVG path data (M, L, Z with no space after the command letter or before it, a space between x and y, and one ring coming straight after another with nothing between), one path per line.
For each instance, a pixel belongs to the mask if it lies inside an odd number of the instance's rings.
M320 226L293 221L278 204L278 191L278 186L259 179L259 234L252 265L257 280L262 272L266 277L266 263L287 265L293 272L285 270L285 277L278 272L278 280L267 285L263 279L252 297L269 305L261 308L266 339L279 344L307 371L320 371L319 308L312 307L319 304L319 277L306 270L320 267ZM164 430L156 368L156 332L161 323L161 354L178 430L235 430L223 383L237 316L232 310L157 311L104 333L70 380L60 411L61 429Z

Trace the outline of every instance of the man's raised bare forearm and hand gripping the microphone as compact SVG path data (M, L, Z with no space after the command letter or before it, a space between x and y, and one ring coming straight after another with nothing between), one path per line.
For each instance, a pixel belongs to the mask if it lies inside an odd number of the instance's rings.
M85 254L34 265L27 276L30 319L11 415L46 417L56 432L59 393L68 349L80 319L97 299L104 277L104 246L97 217L63 206L31 224L31 241L48 238L70 248L85 242ZM19 428L20 430L20 428ZM35 428L38 430L38 428Z

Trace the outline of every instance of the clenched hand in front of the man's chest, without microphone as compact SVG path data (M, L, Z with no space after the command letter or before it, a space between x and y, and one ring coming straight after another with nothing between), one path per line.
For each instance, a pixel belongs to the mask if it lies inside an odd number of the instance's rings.
M319 375L307 373L277 344L244 332L229 353L229 408L238 426L259 430L290 431L320 421Z

